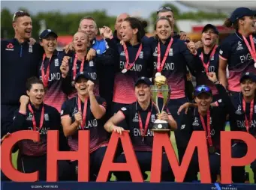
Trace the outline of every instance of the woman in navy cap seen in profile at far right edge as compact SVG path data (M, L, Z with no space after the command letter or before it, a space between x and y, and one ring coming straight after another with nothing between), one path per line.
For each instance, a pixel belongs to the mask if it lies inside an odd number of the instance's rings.
M236 32L230 34L220 46L218 78L231 94L239 93L239 79L242 73L256 73L256 28L253 17L255 14L256 12L253 10L239 7L224 22L224 26L232 27Z

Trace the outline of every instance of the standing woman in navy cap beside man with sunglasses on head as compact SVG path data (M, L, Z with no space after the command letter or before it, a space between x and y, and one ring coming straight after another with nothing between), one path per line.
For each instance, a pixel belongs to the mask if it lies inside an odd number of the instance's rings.
M40 36L40 45L44 48L44 55L38 64L38 77L44 83L47 89L44 96L44 102L51 105L59 112L62 103L67 99L66 94L62 91L62 73L59 69L62 64L64 52L57 51L58 35L50 30L44 30Z

